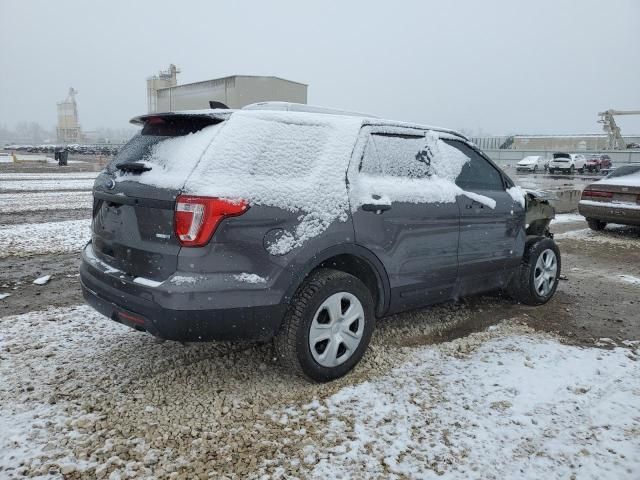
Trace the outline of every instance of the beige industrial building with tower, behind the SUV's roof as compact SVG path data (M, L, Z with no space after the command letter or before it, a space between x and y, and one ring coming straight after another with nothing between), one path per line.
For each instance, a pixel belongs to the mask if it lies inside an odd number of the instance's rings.
M210 108L219 102L229 108L265 101L307 103L307 85L279 77L233 75L177 85L175 65L147 79L149 113Z

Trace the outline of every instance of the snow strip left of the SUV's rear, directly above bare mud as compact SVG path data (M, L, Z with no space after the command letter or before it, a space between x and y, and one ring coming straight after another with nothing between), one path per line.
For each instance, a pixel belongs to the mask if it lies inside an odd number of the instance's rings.
M91 220L0 226L0 258L79 251L91 239Z

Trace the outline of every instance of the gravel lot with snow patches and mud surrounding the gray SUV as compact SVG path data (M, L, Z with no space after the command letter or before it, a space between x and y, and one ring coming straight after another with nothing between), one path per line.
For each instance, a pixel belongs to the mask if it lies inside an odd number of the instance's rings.
M0 197L15 182L0 169ZM270 344L159 342L84 306L89 195L31 195L54 196L0 200L0 477L638 478L640 229L563 216L549 304L384 319L352 374L310 385Z

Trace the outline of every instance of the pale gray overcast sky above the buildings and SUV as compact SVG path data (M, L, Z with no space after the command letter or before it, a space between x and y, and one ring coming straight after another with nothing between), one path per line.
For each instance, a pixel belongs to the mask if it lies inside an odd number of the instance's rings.
M0 125L146 112L145 79L309 84L309 103L485 134L598 132L640 109L640 1L0 0ZM640 117L620 117L640 134Z

